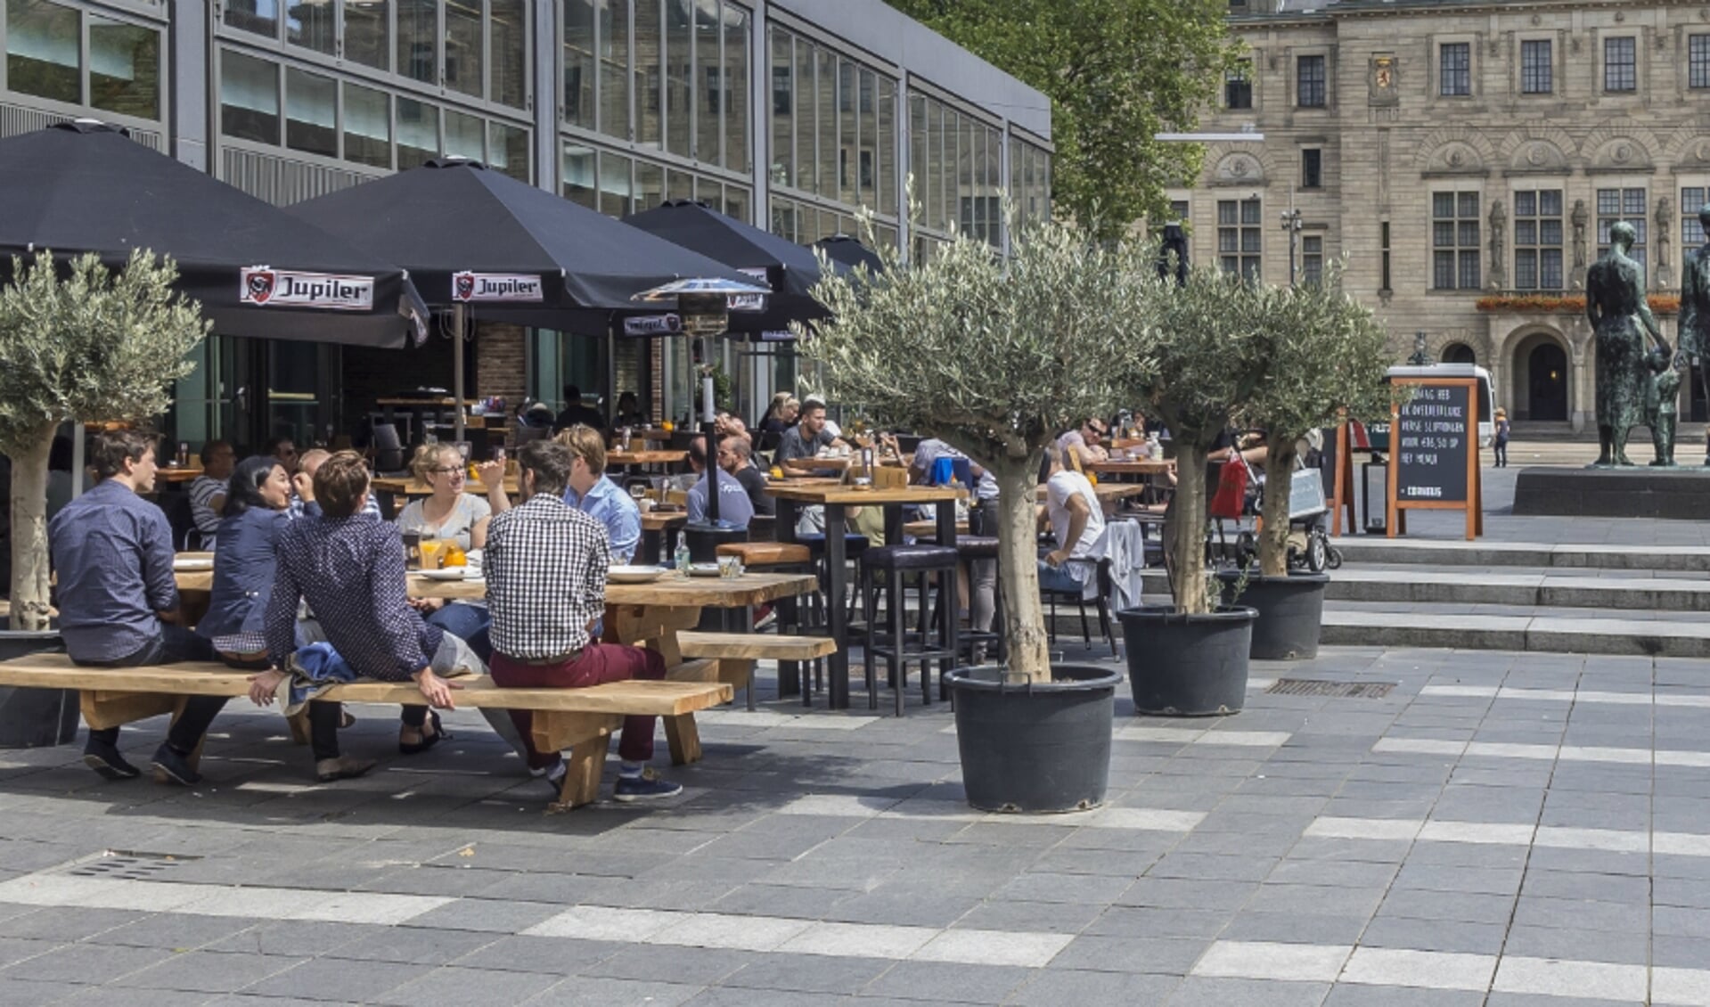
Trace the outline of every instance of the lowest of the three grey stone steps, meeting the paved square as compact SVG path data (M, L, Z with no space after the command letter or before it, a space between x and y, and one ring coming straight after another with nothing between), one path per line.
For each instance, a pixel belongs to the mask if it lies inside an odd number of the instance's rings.
M1558 612L1578 612L1563 615ZM1342 646L1424 646L1443 650L1525 650L1648 657L1710 657L1710 624L1686 619L1585 617L1558 609L1527 614L1447 617L1431 610L1395 612L1339 604L1324 612L1324 643Z

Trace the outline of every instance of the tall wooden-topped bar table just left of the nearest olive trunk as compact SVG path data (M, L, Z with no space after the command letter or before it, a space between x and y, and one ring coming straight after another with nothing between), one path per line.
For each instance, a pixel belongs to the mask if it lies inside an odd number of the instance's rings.
M850 704L850 658L848 658L848 605L843 604L848 574L845 564L843 535L848 533L848 508L884 508L886 542L903 540L903 508L910 504L954 504L961 491L946 486L903 486L896 489L858 489L853 486L799 486L795 482L775 482L766 487L766 494L778 501L778 540L799 542L795 521L802 506L821 504L826 508L826 569L829 580L831 604L826 605L831 639L838 650L826 658L829 663L831 689L829 703L833 710L846 710ZM939 544L956 545L956 508L937 508Z

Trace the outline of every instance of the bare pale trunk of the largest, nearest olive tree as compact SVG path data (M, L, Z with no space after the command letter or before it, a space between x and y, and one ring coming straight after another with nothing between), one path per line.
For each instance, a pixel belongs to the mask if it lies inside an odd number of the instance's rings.
M992 467L997 506L1004 515L997 530L999 595L1004 598L1004 646L1009 650L1011 680L1050 680L1052 651L1045 633L1045 602L1040 598L1038 496L1040 463L1005 462Z

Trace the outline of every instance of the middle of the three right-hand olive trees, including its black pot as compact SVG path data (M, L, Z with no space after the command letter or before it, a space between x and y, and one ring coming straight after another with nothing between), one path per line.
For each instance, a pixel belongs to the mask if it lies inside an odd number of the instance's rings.
M1176 487L1165 520L1173 605L1117 614L1139 713L1235 713L1247 698L1253 612L1223 607L1207 574L1207 458L1265 378L1281 292L1240 275L1194 270L1147 286L1149 368L1123 400L1170 433Z

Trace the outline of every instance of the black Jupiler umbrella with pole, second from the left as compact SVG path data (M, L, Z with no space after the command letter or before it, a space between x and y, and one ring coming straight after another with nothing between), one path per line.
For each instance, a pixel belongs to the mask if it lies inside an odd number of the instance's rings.
M598 332L631 297L677 279L754 284L737 270L534 188L477 161L421 168L289 207L291 214L410 270L433 306L520 325ZM463 395L463 354L453 395ZM457 410L462 439L463 410Z

